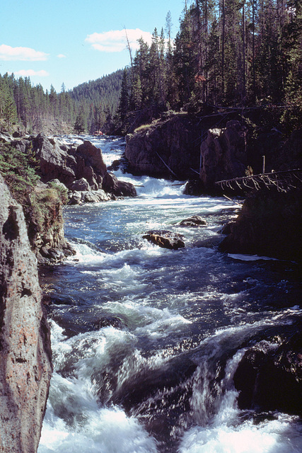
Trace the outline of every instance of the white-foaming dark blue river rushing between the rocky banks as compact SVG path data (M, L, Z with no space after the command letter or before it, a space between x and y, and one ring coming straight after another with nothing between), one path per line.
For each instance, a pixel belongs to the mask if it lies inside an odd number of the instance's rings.
M88 138L108 165L124 147ZM38 452L302 452L298 418L240 411L233 386L248 345L301 316L294 265L216 251L235 203L116 174L138 197L66 207L77 255L42 277L54 374ZM191 214L208 226L177 225ZM149 229L181 233L186 247L153 246Z

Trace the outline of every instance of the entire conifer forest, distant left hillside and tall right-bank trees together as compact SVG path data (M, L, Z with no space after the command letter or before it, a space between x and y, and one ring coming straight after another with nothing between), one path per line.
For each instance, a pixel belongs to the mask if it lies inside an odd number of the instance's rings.
M28 77L0 75L2 127L40 132L61 122L81 132L126 133L166 110L207 113L262 108L289 134L301 125L302 6L299 0L193 0L141 38L129 67L60 93ZM15 127L16 129L16 127Z

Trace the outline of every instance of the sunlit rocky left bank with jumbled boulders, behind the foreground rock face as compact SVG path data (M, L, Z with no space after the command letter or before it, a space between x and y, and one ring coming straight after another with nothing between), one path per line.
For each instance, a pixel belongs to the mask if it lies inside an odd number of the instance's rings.
M43 134L11 137L0 142L34 163L39 178L22 199L28 236L39 263L57 263L73 253L64 238L64 203L100 202L137 195L134 186L109 173L102 151L91 142L65 144ZM12 168L18 173L18 168ZM10 176L8 176L8 180ZM24 190L23 190L24 191Z

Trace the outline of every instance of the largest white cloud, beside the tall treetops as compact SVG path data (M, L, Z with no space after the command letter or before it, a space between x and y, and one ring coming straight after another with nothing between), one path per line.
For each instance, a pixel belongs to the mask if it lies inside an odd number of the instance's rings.
M100 52L122 52L127 48L126 33L132 50L139 48L139 43L137 42L139 38L143 38L145 42L151 44L152 34L148 31L139 30L139 28L135 30L111 30L103 33L93 33L87 36L86 42L89 42L93 49Z

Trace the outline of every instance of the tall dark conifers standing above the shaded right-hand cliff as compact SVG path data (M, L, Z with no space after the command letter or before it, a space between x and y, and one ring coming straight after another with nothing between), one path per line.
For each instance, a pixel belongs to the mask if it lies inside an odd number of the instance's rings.
M139 40L124 71L121 120L146 106L198 112L204 105L286 105L298 121L301 0L186 1L173 42L171 25L168 13L151 45Z

